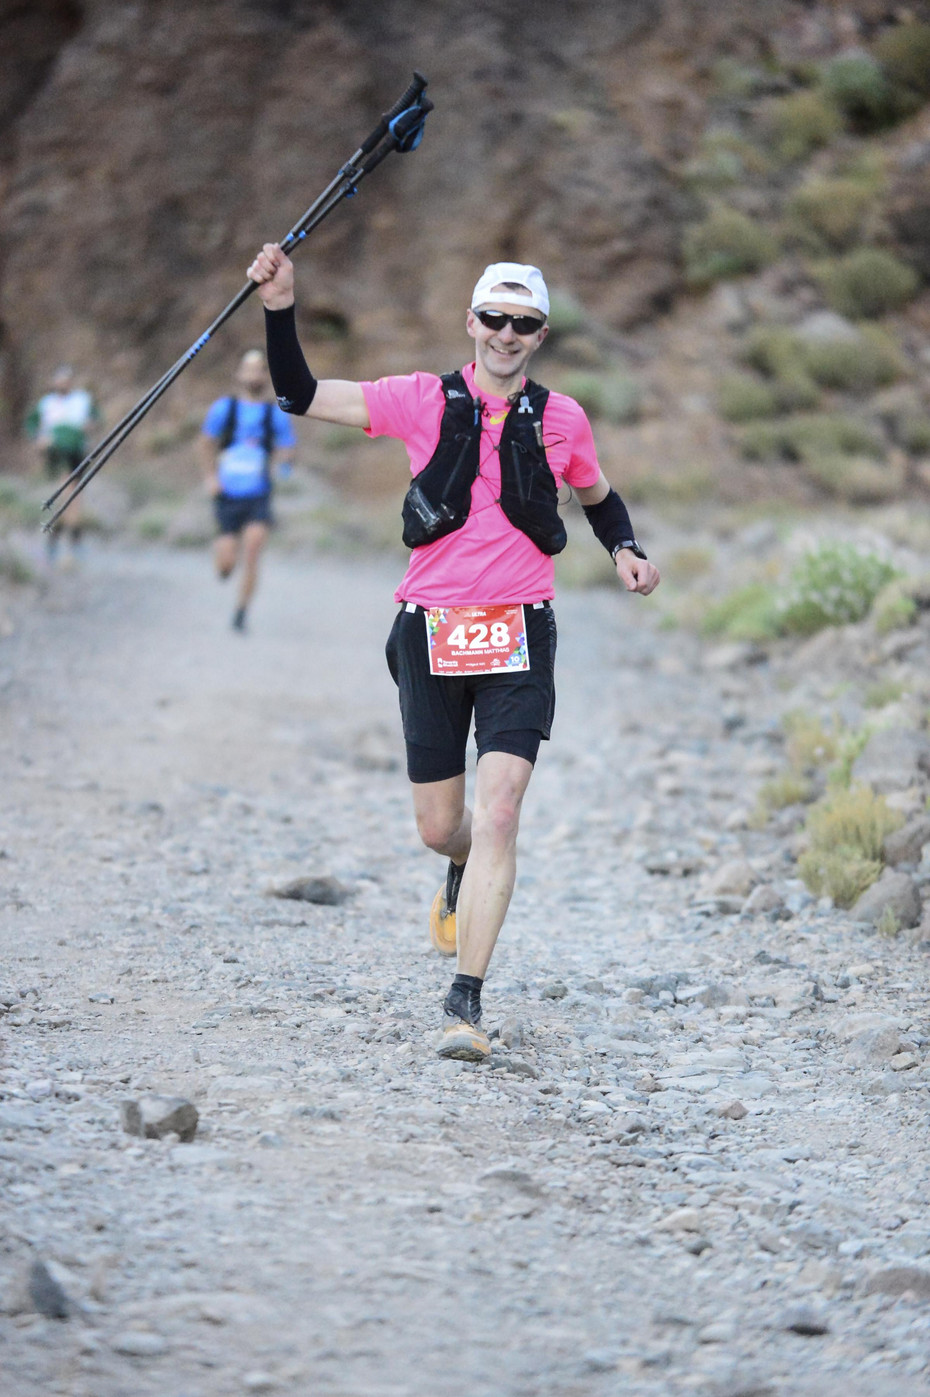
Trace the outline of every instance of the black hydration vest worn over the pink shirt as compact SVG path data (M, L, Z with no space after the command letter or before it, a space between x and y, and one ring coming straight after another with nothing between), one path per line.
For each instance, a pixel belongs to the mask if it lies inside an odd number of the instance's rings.
M423 548L462 528L480 464L480 398L472 398L461 373L443 374L445 409L436 451L413 478L404 500L404 542ZM546 460L542 418L549 388L531 379L511 407L500 434L499 504L542 553L567 543L559 514L559 489Z

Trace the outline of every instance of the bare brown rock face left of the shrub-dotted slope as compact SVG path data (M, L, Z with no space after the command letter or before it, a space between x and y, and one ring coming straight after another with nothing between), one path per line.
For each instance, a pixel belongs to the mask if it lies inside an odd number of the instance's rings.
M803 8L803 7L802 7ZM75 360L113 418L239 289L378 112L430 78L423 145L300 254L318 372L448 367L480 267L539 263L627 327L679 285L687 152L721 46L799 11L709 0L142 0L13 6L0 29L0 317L15 412ZM6 78L10 78L7 82ZM334 328L342 338L334 339ZM246 307L172 390L182 418L261 338ZM204 380L208 380L205 384Z

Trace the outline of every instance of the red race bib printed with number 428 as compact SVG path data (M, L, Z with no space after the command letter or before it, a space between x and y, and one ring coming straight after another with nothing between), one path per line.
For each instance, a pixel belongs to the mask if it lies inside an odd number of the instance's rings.
M426 612L426 640L430 673L445 679L529 669L526 623L519 604L431 606Z

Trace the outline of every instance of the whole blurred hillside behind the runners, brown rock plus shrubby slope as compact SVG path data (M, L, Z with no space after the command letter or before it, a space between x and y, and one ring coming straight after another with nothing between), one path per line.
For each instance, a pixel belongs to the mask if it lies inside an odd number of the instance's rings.
M420 151L388 162L303 254L323 372L445 367L476 267L533 260L557 292L546 377L600 419L633 495L656 462L659 492L679 497L708 482L781 493L797 462L800 500L920 488L929 17L873 0L755 0L736 20L708 0L485 0L466 22L415 0L374 14L357 0L7 6L6 432L63 358L110 419L131 402L416 66L437 108ZM848 267L863 249L884 261ZM863 303L856 288L877 282ZM841 319L811 326L822 310ZM772 326L782 338L760 342ZM126 454L161 450L169 465L257 332L249 307ZM839 367L804 349L811 337L846 344ZM864 377L848 365L863 356ZM899 384L909 395L859 434L795 420L859 412ZM783 430L747 441L758 420Z

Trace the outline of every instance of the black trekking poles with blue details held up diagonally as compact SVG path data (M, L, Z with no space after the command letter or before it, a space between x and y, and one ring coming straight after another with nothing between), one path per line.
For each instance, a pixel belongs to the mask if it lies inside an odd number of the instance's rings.
M286 237L281 240L282 251L295 251L306 239L307 233L313 232L313 229L332 212L337 204L342 203L344 198L350 198L357 191L357 187L364 176L370 175L371 170L391 154L391 151L406 154L406 151L416 149L423 137L426 117L433 110L430 99L423 96L426 91L426 81L427 80L422 73L413 74L413 81L408 87L404 96L398 98L390 112L385 112L381 116L378 124L370 136L362 141L362 145L359 145L355 155L346 161L338 175L330 182L330 184L327 184L320 197L314 200L310 208L293 225ZM49 529L54 527L67 510L68 504L91 483L98 471L106 465L113 453L123 444L123 441L126 441L130 432L138 426L149 408L152 408L162 394L168 391L175 379L184 372L187 365L197 358L200 351L205 344L208 344L209 339L212 339L219 327L223 326L246 300L249 300L253 291L257 289L257 285L258 284L254 281L246 282L229 305L219 312L216 319L202 332L200 339L194 341L190 349L187 349L187 352L183 353L180 359L177 359L176 363L173 363L172 367L162 374L158 383L138 400L135 407L130 408L116 426L112 427L112 430L108 432L101 441L98 441L94 450L89 451L80 465L71 471L67 481L59 486L54 495L49 496L42 506L43 510L52 509L59 496L61 496L68 486L74 486L64 503L59 506L52 518L43 525L45 532L49 532Z

